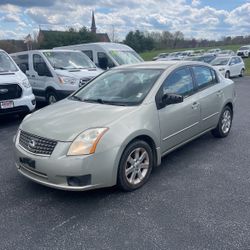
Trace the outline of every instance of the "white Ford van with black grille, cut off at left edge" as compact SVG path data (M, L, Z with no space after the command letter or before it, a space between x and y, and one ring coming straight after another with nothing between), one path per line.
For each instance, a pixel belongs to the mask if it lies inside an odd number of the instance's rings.
M26 114L33 111L35 106L35 96L26 75L0 49L0 115Z

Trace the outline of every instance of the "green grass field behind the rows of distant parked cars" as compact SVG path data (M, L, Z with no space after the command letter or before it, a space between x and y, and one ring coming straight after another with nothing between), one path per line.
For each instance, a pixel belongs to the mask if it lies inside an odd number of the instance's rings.
M226 46L218 46L216 48L220 48L220 49L230 49L233 51L237 51L239 49L239 47L241 47L241 45L226 45ZM196 48L197 50L200 49L204 49L204 50L208 50L208 49L212 49L211 47L199 47ZM152 60L153 57L157 56L160 53L164 53L164 52L174 52L174 51L181 51L181 50L195 50L192 48L186 48L186 49L163 49L163 50L152 50L152 51L147 51L147 52L143 52L140 54L140 56L145 60L145 61L150 61ZM245 62L245 66L246 66L246 75L250 76L250 58L244 58L244 62Z

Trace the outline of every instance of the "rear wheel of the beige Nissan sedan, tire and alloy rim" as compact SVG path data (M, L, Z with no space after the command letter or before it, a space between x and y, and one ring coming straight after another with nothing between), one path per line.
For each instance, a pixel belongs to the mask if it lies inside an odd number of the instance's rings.
M224 138L228 136L233 120L233 111L229 106L226 106L222 112L215 129L211 131L212 135L217 138Z

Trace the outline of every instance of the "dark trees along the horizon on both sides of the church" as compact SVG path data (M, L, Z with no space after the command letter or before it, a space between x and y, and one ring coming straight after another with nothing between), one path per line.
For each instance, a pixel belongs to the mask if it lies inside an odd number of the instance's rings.
M0 48L8 53L32 49L51 49L59 46L72 44L98 42L98 36L86 27L79 30L69 28L67 31L45 30L34 34L26 46L22 40L0 40ZM181 49L214 47L229 44L250 44L250 35L223 37L221 40L186 38L181 31L169 32L143 32L140 30L130 31L126 35L124 44L127 44L138 53L157 49Z

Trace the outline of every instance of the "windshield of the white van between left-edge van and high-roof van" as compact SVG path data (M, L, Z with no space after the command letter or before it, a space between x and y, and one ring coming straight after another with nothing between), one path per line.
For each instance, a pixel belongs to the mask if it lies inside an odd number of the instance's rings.
M85 69L95 68L95 64L83 54L77 51L47 51L43 52L55 69Z

